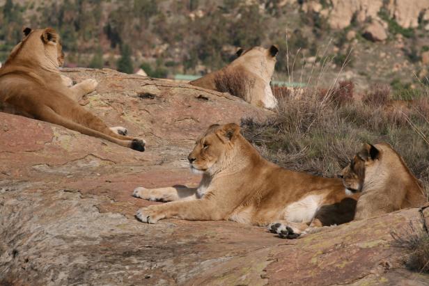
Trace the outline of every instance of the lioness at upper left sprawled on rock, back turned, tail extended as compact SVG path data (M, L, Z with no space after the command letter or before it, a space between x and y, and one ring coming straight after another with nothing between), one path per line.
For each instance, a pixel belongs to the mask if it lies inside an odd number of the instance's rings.
M123 127L107 127L77 103L98 83L87 79L72 86L72 80L59 72L63 60L60 37L54 29L24 29L24 38L0 69L0 102L25 116L144 151L143 140L124 136L127 131Z

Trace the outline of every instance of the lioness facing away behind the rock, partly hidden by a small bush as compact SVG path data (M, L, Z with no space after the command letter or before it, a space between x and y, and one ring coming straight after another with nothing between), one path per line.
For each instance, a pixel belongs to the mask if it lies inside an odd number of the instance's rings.
M221 92L230 92L242 97L254 106L274 109L276 98L272 94L270 81L274 73L278 51L279 49L275 45L269 49L263 47L253 47L247 51L240 49L235 61L221 70L211 72L205 77L191 81L189 84ZM228 78L229 81L226 80ZM221 82L220 86L219 81ZM235 90L238 91L235 92Z

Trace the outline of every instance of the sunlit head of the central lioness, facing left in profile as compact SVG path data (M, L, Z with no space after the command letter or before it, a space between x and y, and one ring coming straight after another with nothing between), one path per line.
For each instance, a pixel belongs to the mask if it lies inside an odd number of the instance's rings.
M240 127L234 123L211 125L198 138L188 160L195 173L216 173L224 166L225 159L233 152L233 144L240 136Z

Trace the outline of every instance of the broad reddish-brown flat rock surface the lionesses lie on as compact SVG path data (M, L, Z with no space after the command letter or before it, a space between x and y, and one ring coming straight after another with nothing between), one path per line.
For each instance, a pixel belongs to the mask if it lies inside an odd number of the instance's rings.
M285 240L229 221L140 223L137 186L195 186L187 154L213 123L263 120L224 93L111 70L65 70L100 84L81 104L148 141L136 152L0 112L0 285L428 285L405 269L391 231L404 209Z

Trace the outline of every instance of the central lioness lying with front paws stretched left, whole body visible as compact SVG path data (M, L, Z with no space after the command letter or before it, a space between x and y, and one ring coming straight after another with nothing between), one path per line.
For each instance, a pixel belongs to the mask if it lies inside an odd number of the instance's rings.
M192 170L203 173L198 188L135 189L135 197L171 201L139 209L140 221L230 220L296 238L313 227L353 219L359 195L346 196L341 180L276 166L233 123L210 126L188 159Z

